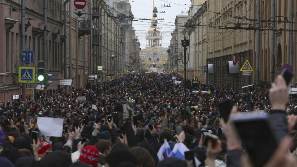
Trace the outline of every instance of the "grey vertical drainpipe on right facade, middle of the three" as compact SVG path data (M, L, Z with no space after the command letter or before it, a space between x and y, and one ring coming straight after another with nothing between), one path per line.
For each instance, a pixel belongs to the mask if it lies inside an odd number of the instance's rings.
M271 21L272 28L275 28L274 16L275 16L275 0L271 1ZM274 81L274 66L275 66L275 55L274 55L274 41L275 41L275 31L273 30L271 33L271 65L270 65L270 84Z

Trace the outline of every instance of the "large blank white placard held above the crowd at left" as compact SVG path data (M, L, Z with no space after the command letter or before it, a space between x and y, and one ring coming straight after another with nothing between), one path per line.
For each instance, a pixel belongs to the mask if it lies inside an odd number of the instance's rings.
M37 125L41 135L62 137L63 119L38 117Z

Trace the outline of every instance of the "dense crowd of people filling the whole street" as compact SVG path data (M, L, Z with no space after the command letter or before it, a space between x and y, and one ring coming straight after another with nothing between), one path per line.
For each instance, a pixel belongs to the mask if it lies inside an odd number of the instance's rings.
M34 99L1 102L0 166L257 166L231 119L238 113L273 120L278 147L265 166L297 165L297 101L289 99L281 75L269 95L202 84L197 79L185 87L175 84L173 77L182 80L168 73L126 74L72 88L67 94L37 92ZM228 121L218 107L225 100L234 104ZM63 119L61 136L42 135L40 117ZM205 145L208 134L217 140ZM171 153L164 150L167 145ZM188 159L182 147L195 158Z

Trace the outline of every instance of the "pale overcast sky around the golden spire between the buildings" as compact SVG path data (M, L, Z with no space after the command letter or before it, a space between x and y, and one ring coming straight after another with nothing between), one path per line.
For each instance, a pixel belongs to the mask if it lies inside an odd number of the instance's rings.
M140 41L140 48L145 49L145 33L150 28L151 21L140 20L140 18L152 19L153 0L130 0L130 4L134 18L138 20L133 21L133 27L135 28L136 36L138 36ZM170 5L171 7L161 7L164 5ZM161 27L160 31L163 36L163 48L167 48L168 45L170 45L170 33L173 32L175 28L175 16L182 14L182 11L188 11L190 5L190 0L155 0L155 7L157 7L158 12L165 11L165 13L157 13L158 27Z

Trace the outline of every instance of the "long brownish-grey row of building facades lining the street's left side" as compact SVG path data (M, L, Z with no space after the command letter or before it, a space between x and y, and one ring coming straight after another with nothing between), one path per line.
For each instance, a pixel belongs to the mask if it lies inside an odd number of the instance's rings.
M72 79L71 88L85 87L87 75L98 75L97 81L105 81L123 76L124 43L120 38L121 23L114 18L104 1L87 0L83 10L74 7L74 0L66 6L66 30L63 27L63 0L47 0L47 22L44 24L44 1L24 0L25 2L25 49L34 51L33 63L21 63L21 1L0 1L2 34L0 50L0 101L14 98L32 99L37 91L37 80L31 84L18 81L19 66L37 66L45 61L46 72L53 74L51 84L43 93L58 93L58 79ZM73 17L73 11L85 11L92 15L85 18ZM43 41L46 31L46 43ZM5 35L4 35L5 34ZM64 36L66 34L66 36ZM67 41L66 55L64 45ZM46 52L45 47L46 46ZM66 62L64 61L66 56ZM66 64L66 68L65 68ZM97 71L103 66L103 71ZM34 71L35 75L36 71ZM66 75L66 77L65 77ZM106 76L108 75L108 77ZM40 84L40 82L39 82Z

